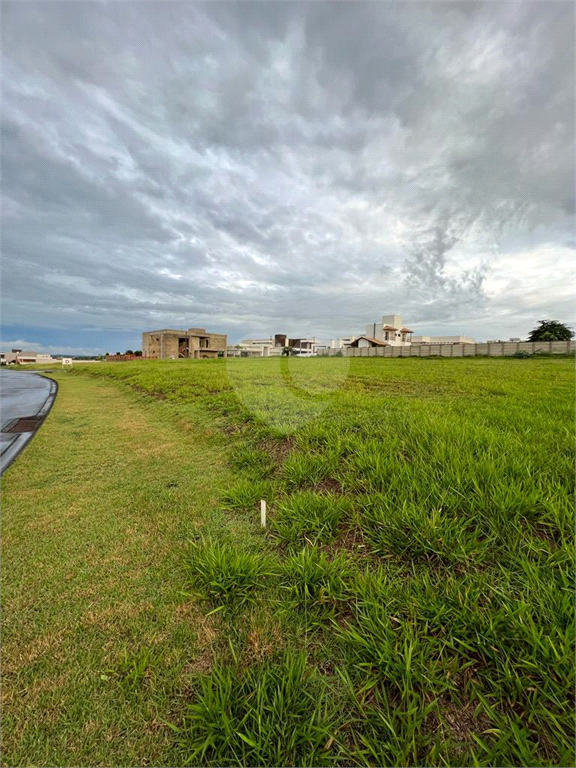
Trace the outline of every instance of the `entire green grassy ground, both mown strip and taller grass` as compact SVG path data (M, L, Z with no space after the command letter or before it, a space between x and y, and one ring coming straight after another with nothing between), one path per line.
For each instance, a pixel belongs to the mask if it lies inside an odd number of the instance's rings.
M3 764L574 764L573 361L56 378L4 483Z

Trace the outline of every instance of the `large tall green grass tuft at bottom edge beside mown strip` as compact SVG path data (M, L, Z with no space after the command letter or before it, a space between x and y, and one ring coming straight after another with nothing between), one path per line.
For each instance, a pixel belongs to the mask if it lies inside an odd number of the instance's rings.
M320 676L293 652L200 678L178 742L185 765L331 765L338 720Z

